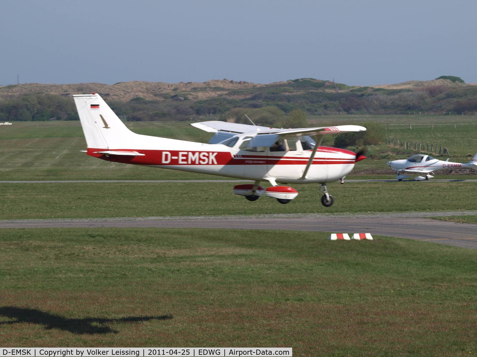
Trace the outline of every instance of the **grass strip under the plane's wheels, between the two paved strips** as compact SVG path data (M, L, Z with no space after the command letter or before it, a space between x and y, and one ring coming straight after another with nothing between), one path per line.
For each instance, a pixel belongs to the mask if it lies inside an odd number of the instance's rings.
M318 184L293 186L298 197L282 205L265 196L249 202L220 181L2 184L0 219L468 210L477 201L474 182L348 182L328 185L335 202L325 208Z

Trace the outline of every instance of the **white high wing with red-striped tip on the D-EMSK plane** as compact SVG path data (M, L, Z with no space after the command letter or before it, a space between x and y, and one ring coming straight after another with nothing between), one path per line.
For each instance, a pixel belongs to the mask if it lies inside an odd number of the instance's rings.
M339 134L348 133L352 131L364 131L366 128L359 125L339 125L336 127L319 127L319 128L299 128L299 129L277 129L259 127L247 124L235 124L227 123L224 121L204 121L201 123L191 124L193 127L216 133L217 136L221 136L222 133L248 133L254 138L250 142L251 146L270 146L279 137L300 137L308 135L325 135L325 134ZM214 135L214 137L216 136ZM224 138L229 137L230 134L224 135ZM213 140L219 142L217 139Z

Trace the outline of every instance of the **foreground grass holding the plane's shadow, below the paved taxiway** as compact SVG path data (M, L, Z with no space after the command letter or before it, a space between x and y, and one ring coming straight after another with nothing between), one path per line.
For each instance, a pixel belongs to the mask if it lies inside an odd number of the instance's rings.
M318 232L58 228L2 229L0 254L3 347L476 352L472 249Z

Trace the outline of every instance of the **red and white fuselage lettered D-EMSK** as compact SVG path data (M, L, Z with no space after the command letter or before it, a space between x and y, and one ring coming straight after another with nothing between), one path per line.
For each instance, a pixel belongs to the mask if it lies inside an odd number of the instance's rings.
M147 137L154 138L154 137ZM90 156L112 162L144 165L162 169L173 169L266 181L275 178L282 183L324 183L334 182L348 175L356 162L353 151L322 147L316 151L306 178L302 178L311 157L311 150L272 152L240 150L240 140L236 147L223 144L202 144L190 141L156 138L155 148L88 148ZM149 141L150 139L146 140ZM155 140L156 141L156 140ZM180 149L179 149L180 148ZM133 151L144 156L115 156L95 153L98 151Z

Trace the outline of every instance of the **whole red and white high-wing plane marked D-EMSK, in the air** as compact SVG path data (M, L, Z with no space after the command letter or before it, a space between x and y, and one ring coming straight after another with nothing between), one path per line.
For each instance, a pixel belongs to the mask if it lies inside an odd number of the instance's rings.
M95 158L163 169L254 180L237 185L234 193L255 201L265 196L288 203L298 192L280 183L321 183L321 202L333 197L326 183L348 175L361 153L321 147L310 135L362 131L357 125L275 129L255 125L206 121L191 124L215 133L208 144L135 134L126 128L98 94L73 95L88 149ZM321 142L321 140L320 140ZM270 182L267 189L261 181Z

